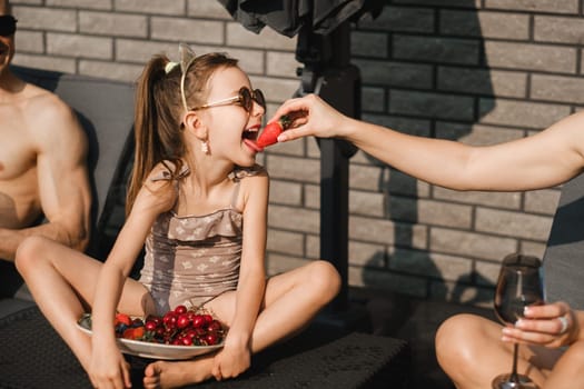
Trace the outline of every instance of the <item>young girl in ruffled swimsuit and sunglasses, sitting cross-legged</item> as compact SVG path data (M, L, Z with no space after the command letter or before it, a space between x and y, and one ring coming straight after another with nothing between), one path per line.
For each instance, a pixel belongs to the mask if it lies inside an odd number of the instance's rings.
M19 271L93 387L130 386L116 311L204 306L229 327L216 353L150 363L145 387L167 388L238 376L253 352L303 329L337 293L326 261L265 279L268 174L254 148L264 113L261 91L235 59L185 46L180 63L152 58L137 89L129 211L106 262L40 237L20 246ZM145 241L136 281L128 275ZM87 309L91 337L76 327Z

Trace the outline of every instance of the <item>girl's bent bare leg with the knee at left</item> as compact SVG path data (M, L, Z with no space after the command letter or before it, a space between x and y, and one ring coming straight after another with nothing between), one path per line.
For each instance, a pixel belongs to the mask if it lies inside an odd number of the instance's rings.
M93 301L102 262L50 239L30 237L20 245L16 265L40 310L87 371L91 341L76 321ZM145 295L148 291L142 285L128 279L119 308L143 315Z

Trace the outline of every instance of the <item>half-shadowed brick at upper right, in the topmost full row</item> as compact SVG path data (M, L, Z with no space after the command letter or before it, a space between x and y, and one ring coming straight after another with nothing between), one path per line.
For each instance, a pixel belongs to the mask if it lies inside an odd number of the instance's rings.
M526 40L529 38L529 17L517 13L443 10L441 11L441 33Z

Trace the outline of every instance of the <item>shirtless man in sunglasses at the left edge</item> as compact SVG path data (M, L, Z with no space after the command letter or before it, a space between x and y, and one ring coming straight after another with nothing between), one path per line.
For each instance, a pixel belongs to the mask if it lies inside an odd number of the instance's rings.
M91 206L85 132L56 94L10 71L14 31L10 4L0 0L0 296L14 292L9 262L26 237L82 250Z

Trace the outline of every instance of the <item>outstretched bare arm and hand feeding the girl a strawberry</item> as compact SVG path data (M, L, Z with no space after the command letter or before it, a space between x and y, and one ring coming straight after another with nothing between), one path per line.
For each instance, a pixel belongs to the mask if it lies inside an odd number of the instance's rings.
M288 100L271 120L290 112L293 128L279 141L337 137L407 174L451 189L540 189L562 183L584 167L584 112L535 136L487 147L409 136L355 120L314 94Z

